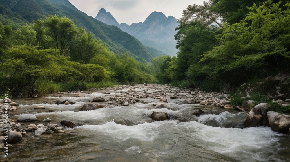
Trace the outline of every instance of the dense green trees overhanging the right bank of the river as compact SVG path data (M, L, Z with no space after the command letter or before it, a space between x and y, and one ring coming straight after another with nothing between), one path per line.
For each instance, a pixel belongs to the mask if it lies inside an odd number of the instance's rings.
M229 7L231 6L231 7ZM207 91L290 73L288 1L210 0L178 20L176 57L154 58L160 83Z

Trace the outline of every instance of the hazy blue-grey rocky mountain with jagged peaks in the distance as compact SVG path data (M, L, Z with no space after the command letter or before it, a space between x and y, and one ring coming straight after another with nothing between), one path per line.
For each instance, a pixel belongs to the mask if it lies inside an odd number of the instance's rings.
M166 17L162 12L152 12L142 23L119 24L110 12L102 8L95 19L108 25L114 25L137 38L143 45L154 47L167 55L175 56L177 49L174 35L177 33L177 20L173 16Z

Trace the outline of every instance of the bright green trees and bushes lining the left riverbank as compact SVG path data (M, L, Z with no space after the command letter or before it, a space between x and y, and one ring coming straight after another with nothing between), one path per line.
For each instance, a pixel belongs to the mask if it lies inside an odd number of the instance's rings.
M13 97L51 93L52 84L79 90L89 82L156 82L151 64L109 51L67 17L49 15L15 30L0 22L0 42L0 91L9 88Z

